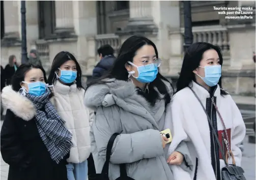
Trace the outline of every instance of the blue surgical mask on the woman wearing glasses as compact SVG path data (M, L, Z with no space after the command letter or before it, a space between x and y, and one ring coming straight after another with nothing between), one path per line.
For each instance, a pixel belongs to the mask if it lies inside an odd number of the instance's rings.
M133 76L133 78L137 79L141 83L151 83L156 79L158 74L158 64L152 63L148 65L136 66L132 62L128 61L129 64L137 67L138 77L134 77L134 71L129 71L129 77ZM160 65L160 64L159 64Z

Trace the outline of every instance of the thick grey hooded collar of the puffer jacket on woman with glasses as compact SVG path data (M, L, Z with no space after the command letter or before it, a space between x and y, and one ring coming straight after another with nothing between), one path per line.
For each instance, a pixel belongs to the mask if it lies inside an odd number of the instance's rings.
M150 103L137 91L137 87L131 81L115 79L104 80L105 83L90 86L84 94L84 104L93 110L98 106L111 106L117 104L123 110L142 116L158 128L157 121L162 117L165 106L164 99L158 100L152 107ZM165 83L165 82L164 82ZM168 89L172 89L168 86ZM160 97L163 96L160 94Z

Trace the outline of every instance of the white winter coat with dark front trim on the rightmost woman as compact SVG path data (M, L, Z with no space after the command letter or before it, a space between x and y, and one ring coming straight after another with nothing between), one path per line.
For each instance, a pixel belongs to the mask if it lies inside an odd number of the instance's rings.
M206 108L207 98L210 97L210 93L195 82L192 82L190 85ZM219 86L215 89L214 97L216 98L216 105L223 118L226 129L228 129L229 136L231 136L231 150L235 156L236 165L240 166L242 153L238 145L245 137L245 124L241 113L229 94L220 95ZM191 178L196 174L196 180L216 180L211 164L211 149L213 147L211 147L210 128L207 116L200 102L198 102L192 91L186 87L174 95L171 108L172 118L175 121L182 122L183 128L189 137L187 145L194 167ZM216 126L218 134L221 134L223 132L223 126L218 114L214 118L217 118ZM222 142L220 143L222 144ZM198 164L196 164L196 158L198 158ZM229 159L229 164L232 164L232 158ZM224 161L220 158L220 171L222 167L224 167ZM196 168L197 171L195 172Z

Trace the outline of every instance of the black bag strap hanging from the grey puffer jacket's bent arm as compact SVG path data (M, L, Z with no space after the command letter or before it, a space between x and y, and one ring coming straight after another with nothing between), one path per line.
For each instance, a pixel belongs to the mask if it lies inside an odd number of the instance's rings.
M115 142L115 139L118 135L119 133L112 134L107 143L106 161L104 163L104 166L101 172L101 174L103 174L107 178L108 178L108 169L109 169L111 150ZM127 176L125 164L120 164L120 176L121 177Z

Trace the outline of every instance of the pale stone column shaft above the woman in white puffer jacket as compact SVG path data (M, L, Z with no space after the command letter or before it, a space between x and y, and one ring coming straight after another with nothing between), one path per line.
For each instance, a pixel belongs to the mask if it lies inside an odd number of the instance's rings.
M73 2L55 1L56 33L72 33L74 31Z

